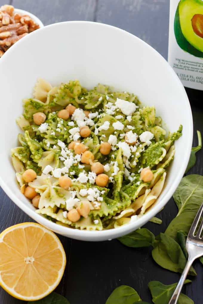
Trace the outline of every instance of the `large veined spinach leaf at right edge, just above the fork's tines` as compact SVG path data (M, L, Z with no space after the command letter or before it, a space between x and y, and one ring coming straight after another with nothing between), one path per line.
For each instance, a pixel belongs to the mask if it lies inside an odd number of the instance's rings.
M187 175L182 178L176 189L173 199L178 207L179 216L185 212L198 212L203 197L203 176L198 174Z

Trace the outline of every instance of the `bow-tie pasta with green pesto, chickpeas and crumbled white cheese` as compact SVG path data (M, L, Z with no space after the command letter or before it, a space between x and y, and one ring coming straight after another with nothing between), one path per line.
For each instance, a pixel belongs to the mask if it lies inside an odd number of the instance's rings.
M47 219L104 230L137 220L154 204L182 126L166 134L155 107L128 92L78 80L52 87L39 78L16 119L11 150L20 191Z

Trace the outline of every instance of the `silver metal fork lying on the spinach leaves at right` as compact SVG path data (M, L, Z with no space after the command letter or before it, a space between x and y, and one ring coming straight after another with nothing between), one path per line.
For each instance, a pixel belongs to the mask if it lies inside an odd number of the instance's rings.
M201 224L199 226L197 233L194 234L197 229L200 218L202 216L202 212L203 212L203 203L202 203L201 207L199 208L199 211L198 211L197 215L195 216L194 222L192 223L192 226L188 233L187 240L186 240L186 249L187 249L187 253L188 253L187 264L185 265L185 269L180 277L180 280L176 286L176 289L173 292L173 295L170 299L169 304L177 303L181 289L182 289L185 279L187 277L187 273L192 266L192 263L194 262L195 259L197 259L198 257L201 257L203 255L203 239L202 239L202 237L200 237L202 230L203 230L203 219L201 221Z

